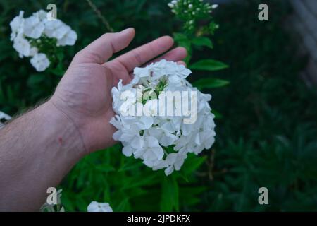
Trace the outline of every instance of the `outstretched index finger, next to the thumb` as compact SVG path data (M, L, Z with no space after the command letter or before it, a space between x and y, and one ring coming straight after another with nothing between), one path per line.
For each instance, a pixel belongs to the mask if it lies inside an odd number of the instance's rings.
M118 61L125 66L128 72L132 71L136 66L147 63L154 57L163 54L173 46L173 38L169 36L159 37L158 39L142 45L126 54L117 57L113 61Z

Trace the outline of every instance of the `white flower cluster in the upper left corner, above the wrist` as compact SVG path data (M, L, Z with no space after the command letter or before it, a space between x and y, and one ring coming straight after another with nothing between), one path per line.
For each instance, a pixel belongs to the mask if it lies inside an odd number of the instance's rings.
M11 41L19 57L32 57L30 63L37 71L44 71L50 65L46 54L39 52L37 45L43 37L55 39L57 46L73 45L77 34L61 20L50 17L50 13L40 10L28 18L23 18L24 11L13 18L11 26Z

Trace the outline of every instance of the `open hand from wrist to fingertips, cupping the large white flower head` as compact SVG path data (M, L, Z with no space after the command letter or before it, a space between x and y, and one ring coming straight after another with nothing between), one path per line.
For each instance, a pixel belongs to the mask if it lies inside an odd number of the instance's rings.
M128 83L133 69L151 60L167 59L183 64L180 60L186 57L186 50L178 47L154 59L173 45L173 39L164 36L107 61L113 53L127 47L134 36L133 28L107 33L78 52L49 100L77 128L85 154L115 143L112 135L116 129L109 123L114 116L111 88L120 79L123 84Z

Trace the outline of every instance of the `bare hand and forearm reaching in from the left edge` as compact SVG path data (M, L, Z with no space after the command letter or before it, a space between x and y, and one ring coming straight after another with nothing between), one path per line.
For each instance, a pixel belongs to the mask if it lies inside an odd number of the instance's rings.
M136 66L161 58L184 64L186 50L168 51L168 36L108 61L134 36L128 28L99 37L75 55L49 100L0 129L1 211L39 210L46 190L58 186L76 162L115 143L111 88L120 79L128 83Z

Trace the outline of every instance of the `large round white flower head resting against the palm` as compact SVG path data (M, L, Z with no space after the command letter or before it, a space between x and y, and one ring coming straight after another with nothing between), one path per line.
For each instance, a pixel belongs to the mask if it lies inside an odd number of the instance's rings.
M153 170L165 168L165 174L169 175L174 169L180 170L187 153L198 155L204 148L211 148L216 136L214 115L208 103L211 95L199 92L186 81L190 73L185 66L163 59L144 68L135 68L135 77L129 84L123 85L120 81L118 88L111 90L116 116L110 122L118 129L113 139L123 143L125 156L134 155ZM150 95L156 94L157 98L145 98L146 93L140 90L146 90ZM196 107L195 121L185 123L188 118L186 111L173 116L157 114L156 110L166 97L163 93L168 91L196 94L189 95L187 99L189 105ZM139 98L140 92L143 93L142 98ZM173 105L176 111L179 103L172 99L166 104ZM149 109L149 112L141 116L127 115L131 109Z

